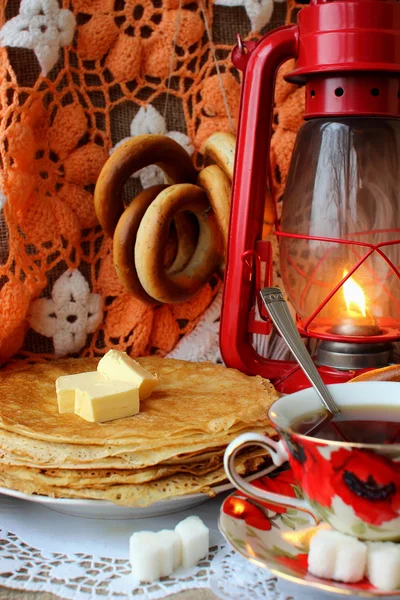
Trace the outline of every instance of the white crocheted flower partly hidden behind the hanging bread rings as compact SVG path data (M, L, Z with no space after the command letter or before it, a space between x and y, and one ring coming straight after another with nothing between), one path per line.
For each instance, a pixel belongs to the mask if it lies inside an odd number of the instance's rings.
M148 104L147 106L142 106L137 113L136 117L133 119L131 123L131 136L142 135L144 133L152 133L159 135L166 135L169 138L172 138L178 144L180 144L186 152L191 156L194 152L194 148L190 141L190 138L180 131L167 131L167 125L165 123L165 119L154 106ZM111 149L110 154L118 148L121 144L129 140L130 138L124 138L117 144L115 144L114 148ZM151 185L157 185L161 183L166 183L165 175L157 165L150 165L149 167L144 167L137 173L133 175L133 177L139 177L140 183L144 189L150 187Z

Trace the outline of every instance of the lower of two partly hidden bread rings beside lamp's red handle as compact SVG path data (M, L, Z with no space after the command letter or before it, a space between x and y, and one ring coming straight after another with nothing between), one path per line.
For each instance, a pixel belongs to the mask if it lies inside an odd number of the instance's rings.
M199 185L207 194L222 233L224 246L228 241L231 185L228 176L218 165L209 165L197 176Z

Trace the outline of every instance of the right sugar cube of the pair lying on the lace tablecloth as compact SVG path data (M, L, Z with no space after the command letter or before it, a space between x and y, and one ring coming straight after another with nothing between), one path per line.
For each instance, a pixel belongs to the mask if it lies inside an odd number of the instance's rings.
M181 538L181 563L187 569L205 558L210 546L210 532L199 517L187 517L175 527Z

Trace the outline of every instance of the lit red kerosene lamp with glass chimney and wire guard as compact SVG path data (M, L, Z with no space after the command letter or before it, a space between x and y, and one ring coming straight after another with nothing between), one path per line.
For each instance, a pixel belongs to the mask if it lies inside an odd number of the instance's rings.
M319 340L326 382L385 366L400 339L400 3L311 0L298 24L240 42L240 120L220 345L225 363L270 378L283 392L308 386L297 364L262 357L258 302L270 285L262 240L274 81L304 84L305 123L293 151L275 233L281 275L302 335Z

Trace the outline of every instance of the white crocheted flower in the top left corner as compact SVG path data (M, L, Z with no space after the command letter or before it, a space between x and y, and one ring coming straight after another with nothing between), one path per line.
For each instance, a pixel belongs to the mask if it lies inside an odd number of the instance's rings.
M33 50L42 75L54 67L60 48L72 42L75 17L57 0L21 0L19 15L0 30L0 44Z

